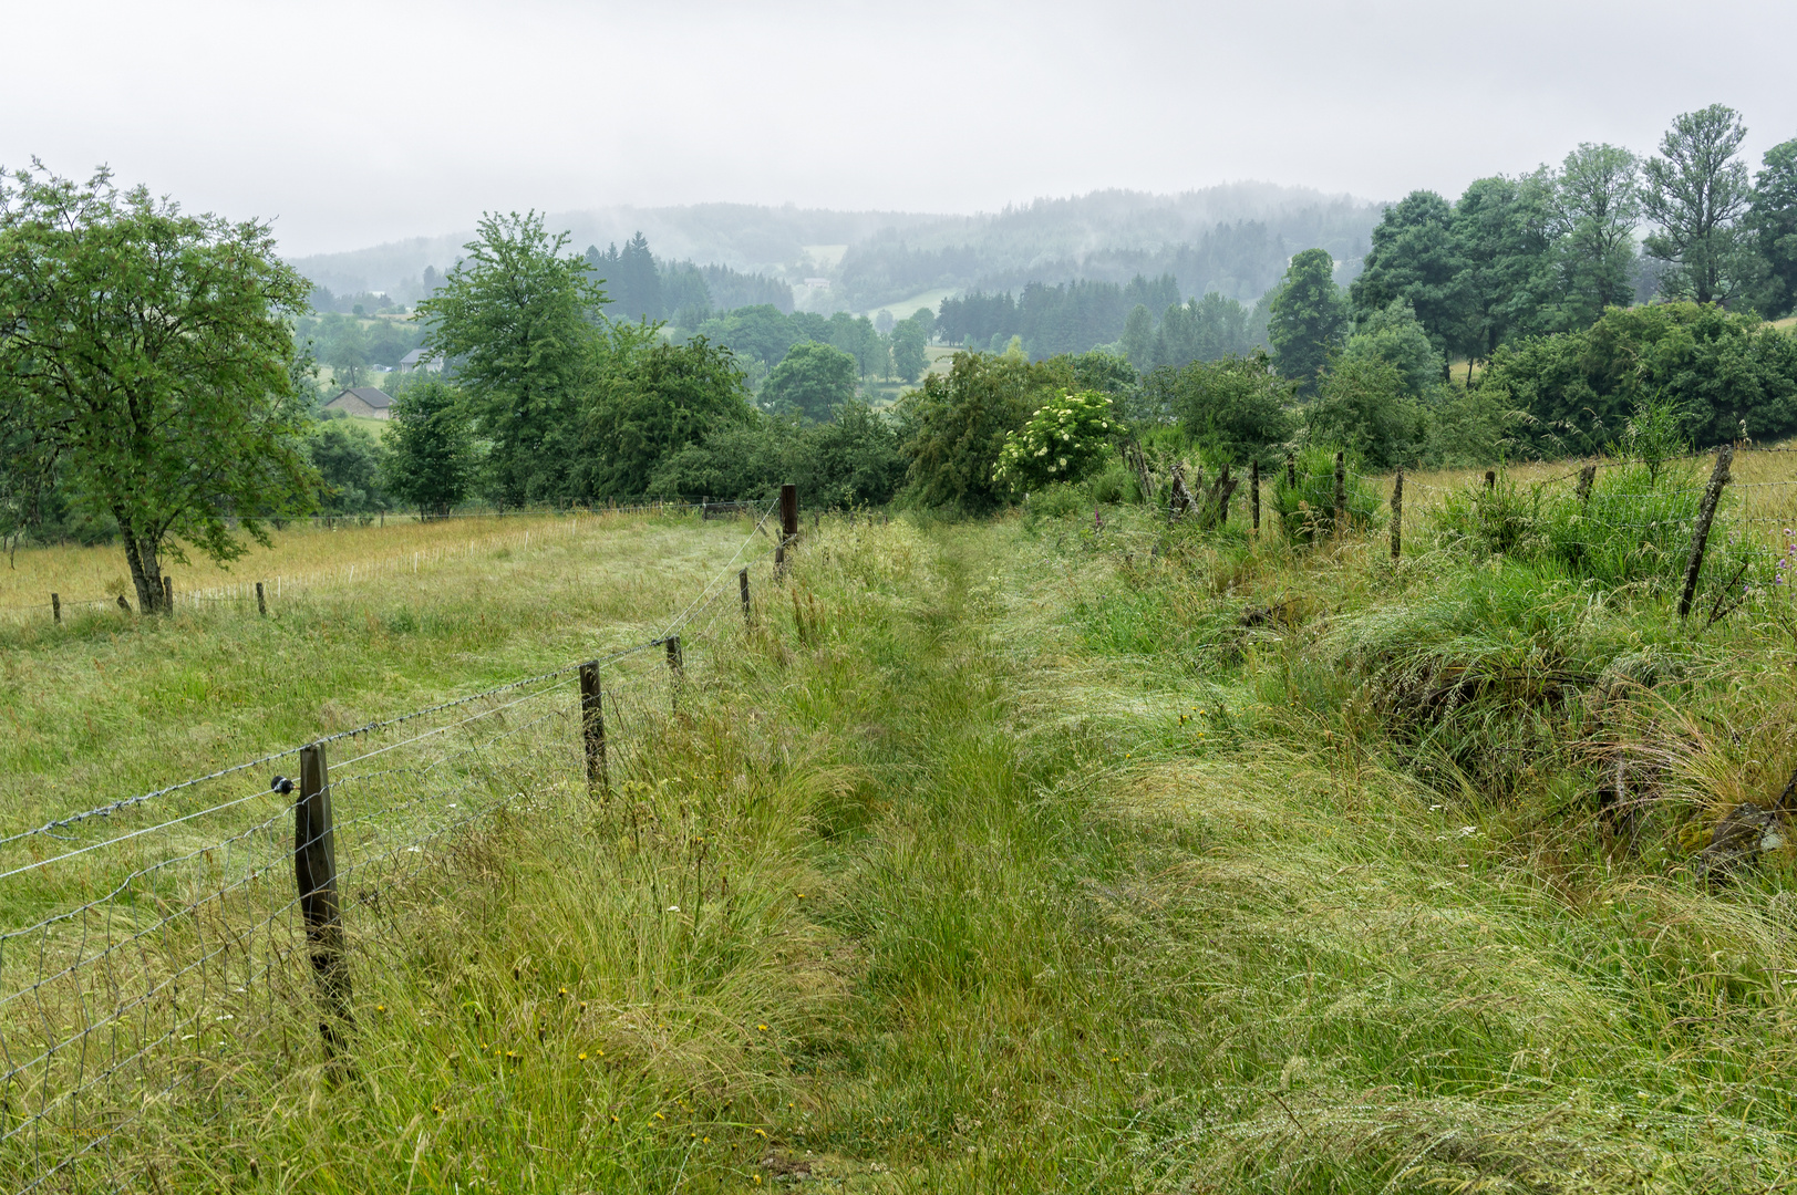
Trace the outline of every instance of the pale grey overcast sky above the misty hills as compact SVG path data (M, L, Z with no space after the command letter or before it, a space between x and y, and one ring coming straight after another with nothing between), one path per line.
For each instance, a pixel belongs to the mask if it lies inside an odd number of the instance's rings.
M1366 198L1797 137L1797 4L0 0L0 164L108 164L288 253L483 208L992 210L1235 180Z

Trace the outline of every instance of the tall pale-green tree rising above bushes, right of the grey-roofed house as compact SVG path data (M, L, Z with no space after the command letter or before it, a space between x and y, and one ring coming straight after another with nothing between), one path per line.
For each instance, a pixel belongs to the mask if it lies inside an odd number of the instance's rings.
M442 286L419 304L424 347L456 363L487 458L494 501L577 496L579 403L606 356L606 291L580 257L562 255L536 212L487 214Z

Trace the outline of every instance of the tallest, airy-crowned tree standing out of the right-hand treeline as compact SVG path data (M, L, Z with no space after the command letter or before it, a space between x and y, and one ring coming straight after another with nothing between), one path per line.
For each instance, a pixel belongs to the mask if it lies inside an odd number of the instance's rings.
M1752 201L1747 164L1734 156L1745 137L1738 111L1711 104L1673 120L1642 167L1644 210L1659 225L1646 252L1671 266L1660 279L1669 297L1729 304L1763 273L1739 235Z

